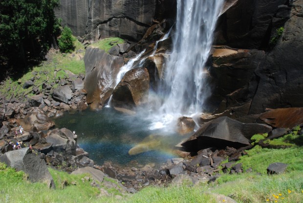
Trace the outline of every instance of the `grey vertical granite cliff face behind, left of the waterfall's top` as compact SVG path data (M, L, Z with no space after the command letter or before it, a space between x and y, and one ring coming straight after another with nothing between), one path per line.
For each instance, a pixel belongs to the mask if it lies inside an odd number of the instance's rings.
M139 41L153 21L173 17L173 0L60 0L56 16L75 36Z

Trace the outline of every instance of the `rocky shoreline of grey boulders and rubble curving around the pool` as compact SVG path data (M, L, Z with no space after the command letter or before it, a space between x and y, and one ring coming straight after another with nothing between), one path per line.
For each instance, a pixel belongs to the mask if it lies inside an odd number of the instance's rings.
M212 121L203 125L204 127L202 126L186 143L182 143L183 147L176 152L183 158L170 159L159 168L155 167L154 164L142 166L137 163L134 163L134 167L121 167L110 162L106 162L102 166L95 165L94 161L89 158L88 153L77 145L77 135L66 128L54 129L55 123L51 120L51 117L62 116L64 112L83 111L87 108L86 91L83 89L84 76L81 74L77 76L70 72L67 73L69 75L68 78L57 80L55 84L44 83L41 92L33 90L35 95L28 97L25 102L18 99L7 101L2 98L0 100L0 117L2 120L0 129L1 160L6 160L6 163L12 163L13 160L10 160L9 153L18 152L20 154L22 152L22 156L25 157L28 154L27 147L32 145L35 153L31 156L36 155L39 159L44 160L45 164L49 167L68 173L74 173L74 171L79 169L87 169L87 167L94 168L95 170L102 171L105 174L103 176L118 180L117 182L121 184L123 183L123 187L121 188L124 188L124 192L129 193L134 193L148 185L168 185L171 182L178 184L183 180L190 181L194 185L201 182L211 182L215 181L219 176L219 171L226 173L243 172L241 164L236 164L235 161L240 156L246 154L244 149L251 146L249 139L245 138L247 141L242 140L242 144L246 147L240 149L239 147L236 147L237 149L230 147L231 142L223 143L224 146L222 146L221 142L221 144L218 144L218 140L221 140L222 137L214 136L212 143L216 144L212 144L212 147L203 146L203 149L196 150L192 146L193 140L194 143L199 143L197 141L200 137L199 134L204 133L205 135L207 127L217 120L215 119L216 116L212 117ZM32 80L35 80L38 74L35 72L32 74ZM58 87L55 86L56 84ZM300 108L295 112L298 113L298 111L300 111ZM262 129L262 133L266 131L274 137L288 133L285 129L282 131L279 126L276 127L280 131L272 130L268 125L257 123L251 124L252 126L250 127L249 124L242 124L233 119L218 116L218 123L233 123L234 128L237 126L236 130L243 129L244 125L246 129L250 129L250 133L252 131L257 133L258 130L256 129L258 128ZM263 118L266 118L266 116L263 115ZM300 119L296 121L301 122ZM235 124L235 122L238 123ZM282 123L285 124L285 122ZM293 121L289 125L295 124L296 122ZM20 133L20 126L24 129L22 134ZM231 134L236 133L235 129ZM17 131L17 135L15 131ZM238 133L236 134L238 135ZM246 136L245 133L243 136ZM238 139L239 137L237 136ZM17 141L25 149L13 150L13 146L10 143L16 143ZM227 141L233 141L234 143L241 142L239 140ZM38 148L41 149L41 154L37 153ZM229 162L222 164L222 161L226 160L226 158L228 158ZM39 167L41 167L41 163ZM86 171L89 170L87 169ZM39 179L32 178L32 180Z

